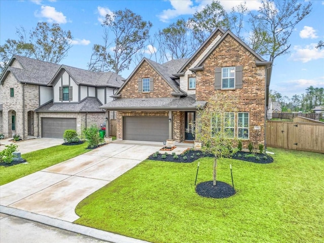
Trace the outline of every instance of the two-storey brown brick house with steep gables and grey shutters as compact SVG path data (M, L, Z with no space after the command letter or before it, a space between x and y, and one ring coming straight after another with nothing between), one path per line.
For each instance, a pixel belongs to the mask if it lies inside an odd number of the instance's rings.
M117 110L117 139L193 141L190 123L217 93L234 99L233 136L247 143L254 128L264 142L271 62L230 31L217 28L189 58L158 64L142 59L101 108ZM222 102L222 101L220 101Z

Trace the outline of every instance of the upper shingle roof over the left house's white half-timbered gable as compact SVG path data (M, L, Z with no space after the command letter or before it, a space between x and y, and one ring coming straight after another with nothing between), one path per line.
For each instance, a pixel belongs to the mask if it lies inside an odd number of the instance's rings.
M55 75L51 78L48 85L52 86L64 70L67 71L77 85L119 88L124 83L123 77L111 71L93 72L81 68L61 65Z

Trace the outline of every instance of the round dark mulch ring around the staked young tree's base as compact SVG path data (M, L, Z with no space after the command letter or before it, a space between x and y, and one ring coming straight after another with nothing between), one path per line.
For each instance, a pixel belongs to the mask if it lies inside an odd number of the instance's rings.
M201 182L196 186L196 192L199 196L211 198L226 198L235 194L234 188L222 181L217 181L213 186L213 181Z

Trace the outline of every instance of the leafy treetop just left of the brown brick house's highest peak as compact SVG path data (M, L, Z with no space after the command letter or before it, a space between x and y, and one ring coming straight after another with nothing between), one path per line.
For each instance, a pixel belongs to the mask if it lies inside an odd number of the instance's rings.
M228 15L219 1L213 1L200 12L196 12L188 22L199 45L206 41L215 28L230 28Z

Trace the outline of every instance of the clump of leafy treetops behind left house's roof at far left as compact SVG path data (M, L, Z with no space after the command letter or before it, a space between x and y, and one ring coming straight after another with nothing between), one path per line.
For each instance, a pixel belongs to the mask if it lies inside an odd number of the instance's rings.
M32 57L37 60L59 63L67 56L71 48L71 31L64 31L59 24L50 26L46 22L39 22L29 35L21 27L16 31L18 40L7 39L6 43L0 47L2 71L14 54Z

